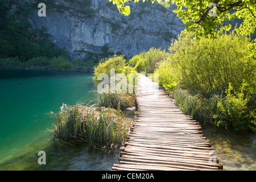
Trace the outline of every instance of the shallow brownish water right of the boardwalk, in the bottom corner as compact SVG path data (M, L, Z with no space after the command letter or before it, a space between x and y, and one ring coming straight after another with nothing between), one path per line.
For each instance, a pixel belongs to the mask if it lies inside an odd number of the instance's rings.
M228 171L256 170L256 134L203 130Z

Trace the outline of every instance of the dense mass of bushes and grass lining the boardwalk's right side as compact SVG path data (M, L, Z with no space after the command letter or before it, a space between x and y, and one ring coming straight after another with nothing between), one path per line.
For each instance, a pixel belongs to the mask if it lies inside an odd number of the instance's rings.
M154 74L180 109L201 123L256 131L254 45L235 32L218 32L216 39L196 39L194 33L182 32ZM155 52L151 54L148 57L155 56ZM141 55L129 62L135 68L138 57Z

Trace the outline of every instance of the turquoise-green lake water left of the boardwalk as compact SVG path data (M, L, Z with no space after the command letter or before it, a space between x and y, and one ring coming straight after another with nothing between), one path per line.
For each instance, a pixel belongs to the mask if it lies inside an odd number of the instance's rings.
M109 170L118 152L53 141L50 114L64 104L96 100L92 74L0 70L0 170ZM38 152L46 151L46 165Z

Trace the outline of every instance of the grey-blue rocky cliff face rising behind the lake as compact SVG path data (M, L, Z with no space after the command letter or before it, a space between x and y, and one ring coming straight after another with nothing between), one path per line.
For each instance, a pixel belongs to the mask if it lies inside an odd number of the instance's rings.
M127 3L131 14L120 14L107 0L56 0L46 2L46 17L38 10L30 15L32 26L45 27L57 46L67 49L71 59L85 59L104 51L132 57L151 47L167 49L171 39L184 29L176 14L151 2Z

